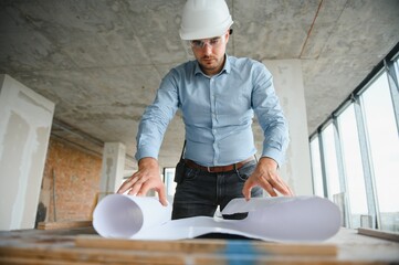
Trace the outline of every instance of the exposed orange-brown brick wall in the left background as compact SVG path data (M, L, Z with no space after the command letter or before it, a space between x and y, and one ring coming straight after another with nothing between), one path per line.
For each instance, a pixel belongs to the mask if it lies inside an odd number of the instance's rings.
M38 221L91 220L101 170L99 156L51 137L38 209L42 220Z

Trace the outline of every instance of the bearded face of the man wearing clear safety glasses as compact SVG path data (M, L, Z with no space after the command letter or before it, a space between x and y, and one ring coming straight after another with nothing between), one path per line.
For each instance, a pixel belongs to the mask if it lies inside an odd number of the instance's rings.
M204 74L216 75L223 68L228 41L228 32L222 36L190 41L192 52Z

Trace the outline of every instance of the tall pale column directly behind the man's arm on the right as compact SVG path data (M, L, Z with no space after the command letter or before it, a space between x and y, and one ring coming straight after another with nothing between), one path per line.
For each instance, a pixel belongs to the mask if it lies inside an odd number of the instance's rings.
M305 92L300 60L263 61L273 74L274 86L288 120L291 142L281 176L296 195L313 194Z

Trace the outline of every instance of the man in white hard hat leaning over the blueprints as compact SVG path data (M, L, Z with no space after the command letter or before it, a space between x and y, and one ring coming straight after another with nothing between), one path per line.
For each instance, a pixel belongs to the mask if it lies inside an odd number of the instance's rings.
M233 21L224 0L188 0L180 38L196 61L172 68L143 115L137 134L138 171L118 190L145 195L154 189L167 204L157 161L166 128L178 108L186 128L185 173L172 219L212 216L234 198L292 195L279 177L288 132L272 75L250 59L225 54ZM264 131L262 157L254 155L253 113Z

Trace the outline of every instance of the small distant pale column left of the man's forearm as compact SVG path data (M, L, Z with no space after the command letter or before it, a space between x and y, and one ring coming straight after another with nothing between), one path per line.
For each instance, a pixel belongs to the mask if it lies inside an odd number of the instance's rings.
M105 142L103 151L101 194L114 193L122 184L126 148L120 142Z

